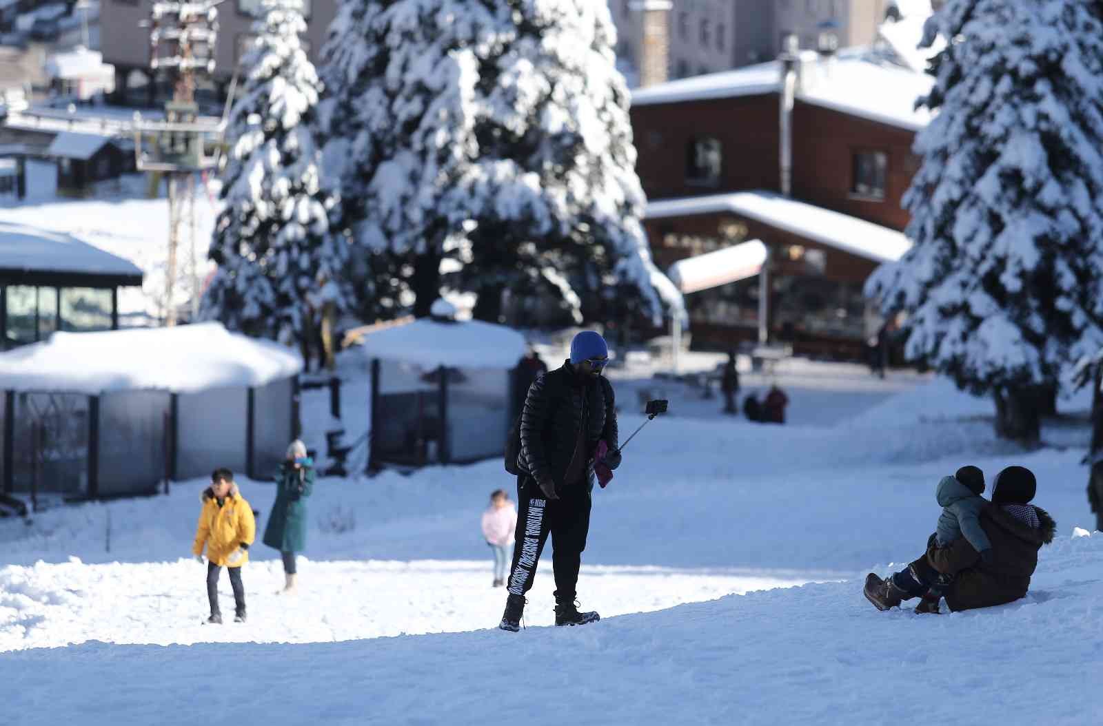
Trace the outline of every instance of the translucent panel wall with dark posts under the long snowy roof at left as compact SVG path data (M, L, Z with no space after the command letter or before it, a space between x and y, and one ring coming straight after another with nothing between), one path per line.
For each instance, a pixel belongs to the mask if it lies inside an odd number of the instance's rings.
M154 494L225 466L267 478L298 433L295 378L197 393L0 391L0 491L52 500Z

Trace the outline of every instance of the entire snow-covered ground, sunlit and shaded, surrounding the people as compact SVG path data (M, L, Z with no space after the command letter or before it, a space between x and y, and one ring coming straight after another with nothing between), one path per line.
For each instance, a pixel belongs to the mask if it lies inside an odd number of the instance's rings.
M542 627L547 556L527 630L493 628L504 596L478 520L510 486L497 462L322 479L302 592L274 594L280 566L258 543L245 625L199 625L204 568L186 556L203 481L0 522L3 723L1103 723L1103 534L1073 537L1094 523L1084 427L1067 418L1045 433L1059 445L1022 452L994 440L990 403L945 381L793 366L779 377L806 378L827 409L807 423L678 415L672 395L629 448L595 492L579 597L604 618L583 628ZM790 393L795 419L812 404ZM323 420L322 401L304 414ZM875 610L860 576L921 551L938 478L1013 463L1058 521L1031 594ZM242 488L263 527L272 486ZM225 576L222 597L226 611Z

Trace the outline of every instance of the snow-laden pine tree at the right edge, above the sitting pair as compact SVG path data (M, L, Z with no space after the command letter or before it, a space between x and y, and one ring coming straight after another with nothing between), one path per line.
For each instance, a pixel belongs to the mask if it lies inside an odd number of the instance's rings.
M1103 3L950 0L903 197L913 248L867 284L907 354L1038 435L1037 397L1103 344Z

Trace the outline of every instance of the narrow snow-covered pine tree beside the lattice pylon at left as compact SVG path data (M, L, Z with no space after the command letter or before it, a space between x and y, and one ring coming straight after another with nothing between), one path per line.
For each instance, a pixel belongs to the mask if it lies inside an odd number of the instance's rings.
M242 61L244 86L231 111L222 172L224 208L210 257L218 271L203 317L250 335L302 343L323 310L347 306L343 235L320 186L311 130L321 83L299 41L298 0L266 0Z

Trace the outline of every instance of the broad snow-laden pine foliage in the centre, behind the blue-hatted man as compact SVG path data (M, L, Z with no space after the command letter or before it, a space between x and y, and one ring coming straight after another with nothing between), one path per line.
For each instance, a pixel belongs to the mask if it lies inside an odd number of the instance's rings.
M326 177L355 242L397 266L384 305L408 291L427 312L449 257L488 318L534 283L577 307L629 282L647 311L681 310L639 221L613 33L589 0L343 0L322 52Z

